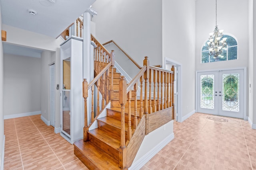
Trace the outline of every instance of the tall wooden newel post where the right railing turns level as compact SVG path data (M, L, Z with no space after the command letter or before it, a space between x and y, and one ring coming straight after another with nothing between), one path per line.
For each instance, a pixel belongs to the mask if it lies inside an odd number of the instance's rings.
M144 114L146 114L146 135L148 135L148 117L149 117L149 115L148 115L148 78L149 78L149 60L148 60L147 56L143 60L143 65L147 66L147 69L144 72L144 80L145 80Z

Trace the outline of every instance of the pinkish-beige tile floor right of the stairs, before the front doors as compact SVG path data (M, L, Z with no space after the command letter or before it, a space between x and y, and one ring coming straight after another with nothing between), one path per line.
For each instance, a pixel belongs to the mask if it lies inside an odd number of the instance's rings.
M141 170L256 170L256 130L248 121L195 113L174 122L174 139Z

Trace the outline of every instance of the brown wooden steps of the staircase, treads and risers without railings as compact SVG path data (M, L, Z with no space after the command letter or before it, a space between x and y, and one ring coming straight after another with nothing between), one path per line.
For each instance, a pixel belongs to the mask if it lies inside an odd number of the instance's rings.
M119 81L121 79L121 75L120 73L116 72L116 69L113 69L113 71L114 94L112 96L112 107L106 109L106 117L97 119L98 128L87 131L88 141L84 142L84 140L81 139L74 143L74 154L76 154L76 156L78 156L78 158L89 169L120 169L118 165L121 136L121 107L118 100ZM102 92L102 90L100 91ZM125 136L127 136L128 131L127 113L126 120ZM133 130L133 119L131 123ZM125 141L127 142L127 137Z

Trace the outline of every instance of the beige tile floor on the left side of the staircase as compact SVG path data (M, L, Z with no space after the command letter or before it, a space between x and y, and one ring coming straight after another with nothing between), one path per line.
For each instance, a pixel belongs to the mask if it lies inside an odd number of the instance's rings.
M5 170L88 170L40 115L4 120Z

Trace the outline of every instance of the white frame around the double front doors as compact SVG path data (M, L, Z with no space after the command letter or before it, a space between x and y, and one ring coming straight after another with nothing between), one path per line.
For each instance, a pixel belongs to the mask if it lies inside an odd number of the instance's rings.
M244 70L244 120L247 120L247 68L246 67L236 67L236 68L223 68L223 69L212 69L212 70L197 70L196 71L196 112L198 111L198 73L199 72L211 72L211 71L226 71L226 70Z

